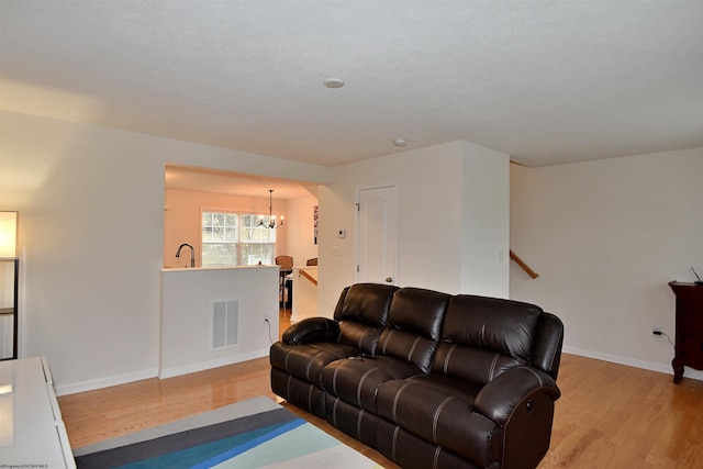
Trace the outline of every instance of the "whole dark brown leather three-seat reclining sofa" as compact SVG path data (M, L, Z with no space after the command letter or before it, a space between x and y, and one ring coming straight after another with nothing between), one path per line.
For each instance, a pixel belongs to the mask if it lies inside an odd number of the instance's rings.
M533 304L358 283L271 346L271 389L403 468L534 468L562 339Z

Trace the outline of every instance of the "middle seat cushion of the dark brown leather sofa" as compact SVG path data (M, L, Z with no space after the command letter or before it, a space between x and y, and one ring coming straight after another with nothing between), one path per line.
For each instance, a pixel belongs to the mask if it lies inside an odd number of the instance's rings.
M422 371L414 365L395 358L355 357L331 362L322 371L324 389L365 411L376 412L378 387L397 379L405 379Z

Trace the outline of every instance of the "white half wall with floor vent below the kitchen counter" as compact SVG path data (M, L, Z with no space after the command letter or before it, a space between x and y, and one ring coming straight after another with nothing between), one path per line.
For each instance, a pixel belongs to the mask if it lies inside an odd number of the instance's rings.
M268 356L278 337L278 268L180 268L161 276L160 378ZM222 301L238 303L237 340L213 348L213 303Z

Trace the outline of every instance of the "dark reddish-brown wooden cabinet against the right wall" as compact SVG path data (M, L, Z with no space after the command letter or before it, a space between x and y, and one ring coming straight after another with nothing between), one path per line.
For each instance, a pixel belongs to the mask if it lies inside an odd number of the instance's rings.
M703 370L703 286L670 282L677 297L677 333L673 382L681 381L683 367Z

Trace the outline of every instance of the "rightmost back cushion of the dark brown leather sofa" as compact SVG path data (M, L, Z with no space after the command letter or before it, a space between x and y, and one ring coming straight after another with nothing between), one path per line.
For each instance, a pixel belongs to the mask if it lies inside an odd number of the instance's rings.
M517 301L451 298L432 371L486 383L528 365L542 314L539 306Z

